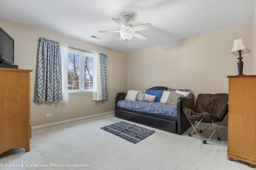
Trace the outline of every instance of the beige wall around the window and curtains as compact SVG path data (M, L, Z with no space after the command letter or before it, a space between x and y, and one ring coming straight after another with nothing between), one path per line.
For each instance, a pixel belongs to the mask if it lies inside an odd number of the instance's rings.
M116 93L126 92L127 53L2 19L0 19L0 27L14 38L14 64L18 65L21 69L33 70L31 73L32 126L114 111ZM63 103L33 102L39 37L65 43L70 47L106 54L108 56L107 70L109 100L104 102L95 102L92 101L92 94L83 94L70 95L69 102ZM46 113L52 113L52 117L46 117Z

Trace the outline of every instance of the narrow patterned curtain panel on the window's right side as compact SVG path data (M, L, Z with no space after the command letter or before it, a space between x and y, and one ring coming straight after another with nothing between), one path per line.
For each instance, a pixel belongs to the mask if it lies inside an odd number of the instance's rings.
M108 76L107 76L107 57L100 53L100 75L102 86L102 100L108 100Z

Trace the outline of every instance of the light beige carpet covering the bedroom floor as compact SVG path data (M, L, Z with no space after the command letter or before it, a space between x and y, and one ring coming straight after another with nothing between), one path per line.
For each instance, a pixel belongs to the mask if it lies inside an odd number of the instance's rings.
M116 118L111 113L34 129L30 140L30 152L25 152L24 149L4 152L0 155L0 166L3 166L0 169L252 169L245 162L228 160L226 130L218 130L222 141L218 141L214 135L208 144L203 144L197 135L189 137L188 131L183 135L177 135L140 125L156 132L134 144L100 129L118 121L125 120Z

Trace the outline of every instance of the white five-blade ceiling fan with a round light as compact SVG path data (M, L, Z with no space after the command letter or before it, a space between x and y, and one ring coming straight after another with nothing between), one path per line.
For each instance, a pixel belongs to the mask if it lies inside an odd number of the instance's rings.
M133 27L131 23L128 23L132 19L131 16L125 15L122 17L122 22L119 18L112 18L120 27L120 30L118 31L99 31L100 33L120 33L119 39L124 39L124 41L128 41L132 39L132 37L136 37L142 41L145 41L148 39L148 37L141 35L139 33L136 33L136 31L141 31L145 29L151 29L153 26L151 23L142 24L136 27Z

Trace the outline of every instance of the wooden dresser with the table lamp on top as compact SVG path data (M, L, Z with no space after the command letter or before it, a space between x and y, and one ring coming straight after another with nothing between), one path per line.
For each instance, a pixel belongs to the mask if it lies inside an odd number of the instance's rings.
M228 160L256 165L256 75L228 76Z

